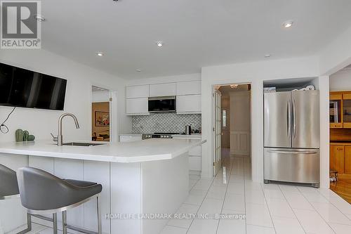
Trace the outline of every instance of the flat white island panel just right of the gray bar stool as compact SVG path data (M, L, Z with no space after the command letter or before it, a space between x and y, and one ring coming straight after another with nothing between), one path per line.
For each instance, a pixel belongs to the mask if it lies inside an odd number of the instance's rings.
M141 219L113 219L141 214L141 164L111 162L111 233L141 234Z

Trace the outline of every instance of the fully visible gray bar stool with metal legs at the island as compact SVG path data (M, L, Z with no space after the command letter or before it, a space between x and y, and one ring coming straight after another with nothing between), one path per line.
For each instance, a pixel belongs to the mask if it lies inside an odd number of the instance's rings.
M98 209L98 234L102 233L99 195L102 186L89 181L65 180L41 169L22 167L18 169L18 186L22 205L32 215L62 212L62 230L67 228L93 234L91 230L67 224L67 209L96 199Z

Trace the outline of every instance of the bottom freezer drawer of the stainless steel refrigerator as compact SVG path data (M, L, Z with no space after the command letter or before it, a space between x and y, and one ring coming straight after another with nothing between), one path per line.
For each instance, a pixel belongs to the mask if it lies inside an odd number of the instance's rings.
M265 148L265 180L319 184L319 150Z

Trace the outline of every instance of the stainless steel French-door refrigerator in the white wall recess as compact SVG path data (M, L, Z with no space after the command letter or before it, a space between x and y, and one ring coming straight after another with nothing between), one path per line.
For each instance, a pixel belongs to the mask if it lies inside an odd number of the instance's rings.
M319 187L319 91L264 94L264 178Z

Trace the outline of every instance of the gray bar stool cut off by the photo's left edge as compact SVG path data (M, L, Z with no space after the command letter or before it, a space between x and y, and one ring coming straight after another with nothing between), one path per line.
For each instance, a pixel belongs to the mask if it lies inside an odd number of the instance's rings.
M20 197L16 172L0 164L0 200ZM27 228L18 234L32 230L32 217L27 213Z

